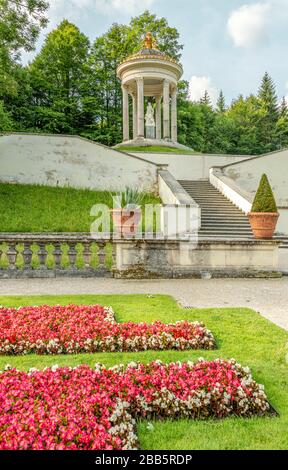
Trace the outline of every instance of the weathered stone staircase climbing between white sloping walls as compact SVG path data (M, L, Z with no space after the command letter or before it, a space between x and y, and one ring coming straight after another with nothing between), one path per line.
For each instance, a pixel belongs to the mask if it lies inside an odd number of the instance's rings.
M179 181L201 208L200 239L251 240L248 217L209 181Z

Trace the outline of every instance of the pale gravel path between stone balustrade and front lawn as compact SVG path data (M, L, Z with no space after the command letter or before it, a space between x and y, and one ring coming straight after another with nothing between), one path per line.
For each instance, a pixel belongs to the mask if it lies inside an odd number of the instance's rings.
M168 294L184 307L249 307L288 330L288 278L0 280L0 295Z

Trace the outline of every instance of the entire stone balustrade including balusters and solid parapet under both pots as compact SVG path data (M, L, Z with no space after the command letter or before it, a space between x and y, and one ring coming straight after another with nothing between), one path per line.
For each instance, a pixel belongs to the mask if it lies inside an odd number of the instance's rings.
M0 279L278 277L278 240L111 240L0 234Z

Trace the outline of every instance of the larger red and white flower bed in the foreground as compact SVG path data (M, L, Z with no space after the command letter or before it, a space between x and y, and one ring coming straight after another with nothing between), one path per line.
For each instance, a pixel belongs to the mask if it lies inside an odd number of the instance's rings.
M0 373L0 450L125 450L137 418L262 416L264 387L236 361Z

